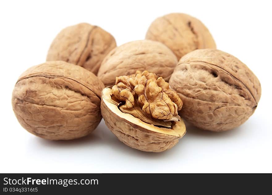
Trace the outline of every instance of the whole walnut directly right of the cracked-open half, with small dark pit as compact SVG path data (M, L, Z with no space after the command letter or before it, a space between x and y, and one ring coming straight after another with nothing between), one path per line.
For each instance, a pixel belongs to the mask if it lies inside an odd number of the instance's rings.
M183 100L181 116L210 131L243 124L261 97L254 73L236 57L215 49L199 49L183 56L169 85Z

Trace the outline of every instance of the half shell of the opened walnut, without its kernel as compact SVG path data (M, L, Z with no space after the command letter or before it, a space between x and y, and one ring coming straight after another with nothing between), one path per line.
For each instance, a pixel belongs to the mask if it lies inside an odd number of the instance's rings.
M103 91L108 91L105 88ZM162 152L177 144L185 133L183 120L177 122L173 129L159 128L147 124L128 113L122 113L117 105L108 101L102 92L101 114L105 124L124 144L145 152Z

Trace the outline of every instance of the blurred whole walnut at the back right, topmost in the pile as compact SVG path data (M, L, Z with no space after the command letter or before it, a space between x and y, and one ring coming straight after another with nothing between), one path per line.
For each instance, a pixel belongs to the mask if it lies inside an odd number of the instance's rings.
M157 18L150 25L146 39L159 41L169 47L178 60L196 50L215 49L215 41L202 22L192 16L172 13Z

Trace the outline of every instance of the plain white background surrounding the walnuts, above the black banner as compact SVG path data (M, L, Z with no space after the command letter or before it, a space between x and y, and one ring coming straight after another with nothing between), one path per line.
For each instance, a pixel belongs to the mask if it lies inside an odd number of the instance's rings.
M272 172L271 5L269 1L1 1L0 3L0 172ZM64 27L99 25L118 45L144 39L149 24L171 12L200 19L218 49L249 66L262 95L240 127L214 133L187 126L187 134L163 153L122 144L102 120L89 136L49 141L24 130L11 107L19 75L43 63L50 43Z

